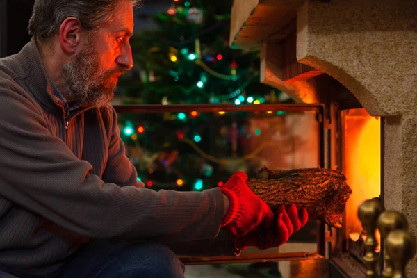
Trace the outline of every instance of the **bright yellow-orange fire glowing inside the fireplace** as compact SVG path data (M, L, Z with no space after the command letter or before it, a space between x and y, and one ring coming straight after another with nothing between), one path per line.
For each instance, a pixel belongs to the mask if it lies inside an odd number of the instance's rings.
M353 191L346 204L346 236L353 241L360 236L365 240L357 211L363 201L381 193L380 119L368 115L365 109L354 109L345 115L344 124L343 172ZM376 237L379 251L379 231Z

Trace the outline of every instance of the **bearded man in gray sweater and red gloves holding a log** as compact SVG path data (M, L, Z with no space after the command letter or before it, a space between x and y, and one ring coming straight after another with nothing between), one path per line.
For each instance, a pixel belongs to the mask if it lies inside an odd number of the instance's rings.
M110 104L133 66L137 0L36 0L31 42L0 59L0 277L183 277L178 255L277 247L305 210L137 180Z

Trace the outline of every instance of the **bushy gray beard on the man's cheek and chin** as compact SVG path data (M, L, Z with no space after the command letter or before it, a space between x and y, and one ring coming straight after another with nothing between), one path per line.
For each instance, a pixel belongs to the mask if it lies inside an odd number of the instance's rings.
M101 107L114 97L115 84L111 76L101 70L100 60L94 45L89 42L79 54L62 67L63 90L67 101L74 101L83 107Z

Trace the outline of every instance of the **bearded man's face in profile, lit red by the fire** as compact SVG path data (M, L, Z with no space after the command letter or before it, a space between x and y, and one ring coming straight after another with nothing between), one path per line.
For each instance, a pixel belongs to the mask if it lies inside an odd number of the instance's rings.
M79 53L63 65L63 85L70 101L99 107L113 99L118 77L133 66L132 32L132 4L121 1L113 22L88 35Z

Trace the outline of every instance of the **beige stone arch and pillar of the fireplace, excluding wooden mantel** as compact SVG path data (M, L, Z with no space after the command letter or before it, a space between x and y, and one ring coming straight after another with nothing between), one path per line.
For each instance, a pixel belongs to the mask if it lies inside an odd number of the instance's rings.
M417 5L414 1L305 1L297 10L297 60L325 72L370 115L384 117L384 206L417 236ZM300 102L323 101L316 81L264 82ZM306 95L306 84L309 94ZM329 89L329 94L337 94ZM417 259L407 267L417 277Z

